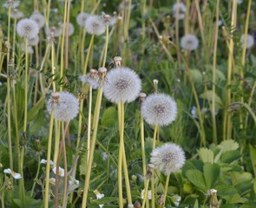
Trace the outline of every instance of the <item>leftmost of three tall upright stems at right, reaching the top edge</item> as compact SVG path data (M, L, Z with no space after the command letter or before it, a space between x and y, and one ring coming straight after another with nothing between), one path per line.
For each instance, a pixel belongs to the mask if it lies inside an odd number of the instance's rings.
M213 46L213 101L212 101L212 122L213 122L213 143L217 144L217 127L215 119L215 81L216 81L216 57L217 57L217 45L218 45L218 34L219 34L219 8L220 0L216 2L216 23L214 33L214 46Z

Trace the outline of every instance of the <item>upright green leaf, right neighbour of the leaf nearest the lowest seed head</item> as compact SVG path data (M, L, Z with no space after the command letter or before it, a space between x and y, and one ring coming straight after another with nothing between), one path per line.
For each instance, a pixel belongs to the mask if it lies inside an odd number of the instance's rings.
M220 166L218 164L206 163L204 165L204 177L207 189L212 189L220 175Z

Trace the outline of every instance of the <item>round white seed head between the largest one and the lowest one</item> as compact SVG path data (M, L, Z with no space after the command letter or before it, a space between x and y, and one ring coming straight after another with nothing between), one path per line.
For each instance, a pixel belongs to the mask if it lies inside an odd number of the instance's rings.
M149 125L167 126L177 115L177 104L167 94L149 94L141 105L141 113Z

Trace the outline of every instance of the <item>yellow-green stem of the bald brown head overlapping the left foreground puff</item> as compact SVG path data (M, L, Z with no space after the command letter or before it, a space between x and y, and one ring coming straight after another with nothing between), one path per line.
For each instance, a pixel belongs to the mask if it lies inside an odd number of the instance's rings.
M48 137L48 146L47 146L47 163L46 163L46 184L45 184L45 199L44 199L44 208L49 207L49 160L50 160L50 151L51 151L51 140L52 140L52 129L53 129L53 120L54 120L54 111L50 114L49 119L49 137Z

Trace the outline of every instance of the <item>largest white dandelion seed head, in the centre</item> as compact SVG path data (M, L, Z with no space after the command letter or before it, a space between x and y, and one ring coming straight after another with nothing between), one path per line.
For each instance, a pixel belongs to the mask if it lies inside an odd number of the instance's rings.
M108 101L131 102L139 96L141 92L141 79L130 68L114 68L107 73L103 94Z

